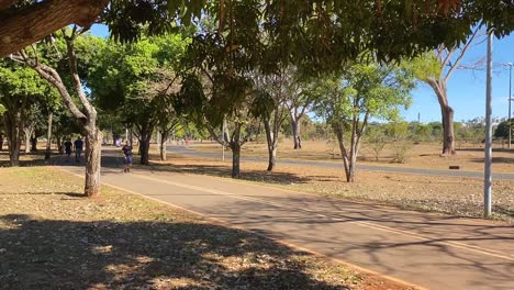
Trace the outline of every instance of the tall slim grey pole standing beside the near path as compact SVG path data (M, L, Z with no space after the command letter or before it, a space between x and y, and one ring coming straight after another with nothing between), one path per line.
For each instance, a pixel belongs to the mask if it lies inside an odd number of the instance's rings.
M485 159L483 178L483 216L491 216L491 194L492 194L492 30L488 31L488 72L485 89Z

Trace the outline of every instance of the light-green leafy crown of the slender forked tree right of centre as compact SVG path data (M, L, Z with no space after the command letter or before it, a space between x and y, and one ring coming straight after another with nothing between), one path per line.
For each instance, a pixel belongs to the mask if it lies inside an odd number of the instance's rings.
M320 81L315 110L328 122L360 118L396 120L399 107L409 107L414 78L405 69L386 64L356 64L339 76Z

